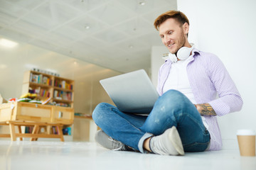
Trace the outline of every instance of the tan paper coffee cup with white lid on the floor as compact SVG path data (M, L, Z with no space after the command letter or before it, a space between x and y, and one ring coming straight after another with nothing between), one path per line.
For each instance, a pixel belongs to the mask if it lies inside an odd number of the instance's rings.
M255 157L255 130L238 130L238 145L240 155Z

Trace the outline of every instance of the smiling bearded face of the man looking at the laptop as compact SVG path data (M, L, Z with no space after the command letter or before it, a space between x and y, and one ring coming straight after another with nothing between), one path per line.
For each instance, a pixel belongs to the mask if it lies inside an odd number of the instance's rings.
M183 46L189 46L186 38L186 34L188 32L187 26L187 23L180 26L180 23L178 23L174 18L167 19L159 26L159 35L161 40L172 54L176 54L178 49Z

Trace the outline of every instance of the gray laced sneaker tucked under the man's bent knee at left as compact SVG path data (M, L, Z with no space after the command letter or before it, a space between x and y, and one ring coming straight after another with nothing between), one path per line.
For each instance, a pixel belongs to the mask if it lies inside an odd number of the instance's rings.
M112 137L108 136L103 130L98 130L95 134L95 140L98 144L102 145L107 149L116 151L126 151L127 146L118 140L114 140Z

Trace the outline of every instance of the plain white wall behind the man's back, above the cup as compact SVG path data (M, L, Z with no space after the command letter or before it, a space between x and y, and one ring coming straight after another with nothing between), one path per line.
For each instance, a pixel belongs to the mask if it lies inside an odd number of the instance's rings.
M235 139L240 128L256 130L256 1L177 2L191 23L188 40L220 57L244 100L242 111L218 118L223 139Z

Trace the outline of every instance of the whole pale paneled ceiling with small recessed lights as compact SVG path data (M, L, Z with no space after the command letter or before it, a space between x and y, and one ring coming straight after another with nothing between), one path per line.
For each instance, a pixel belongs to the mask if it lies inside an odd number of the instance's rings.
M0 35L130 72L151 67L154 19L171 9L174 0L0 0Z

